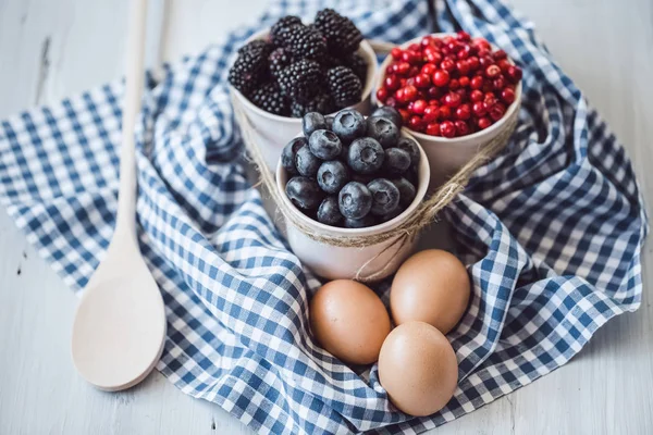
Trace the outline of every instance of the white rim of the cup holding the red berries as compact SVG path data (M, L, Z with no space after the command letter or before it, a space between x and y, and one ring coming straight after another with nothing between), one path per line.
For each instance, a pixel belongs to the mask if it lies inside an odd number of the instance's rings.
M422 36L418 36L417 38L412 38L402 45L398 45L397 47L404 49L414 42L420 41L421 38L423 38L424 36L443 37L443 36L455 36L455 35L456 35L455 33L445 33L445 32L422 35ZM488 41L488 42L490 44L490 46L492 46L493 50L500 49L500 47L495 46L494 44L492 44L490 41ZM374 92L373 92L372 97L373 97L373 102L379 107L385 105L384 103L381 103L377 99L377 90L380 89L381 83L385 78L385 69L390 64L391 58L392 58L392 54L387 53L387 55L385 57L385 59L383 59L383 62L381 62L381 65L379 65L379 69L378 69L379 73L377 74L377 79L374 83ZM509 57L508 57L508 61L510 63L515 64L513 59L510 59ZM491 126L489 126L485 129L472 133L471 135L447 138L447 137L442 137L442 136L427 135L426 133L416 132L406 126L404 126L402 128L407 129L412 136L415 136L416 138L420 139L420 140L431 140L432 142L441 142L441 144L466 142L466 141L469 141L470 139L477 139L477 138L481 138L483 136L491 136L496 129L501 128L506 123L506 121L514 114L515 111L518 110L519 105L521 104L521 82L522 80L519 80L519 83L517 84L517 86L515 88L515 101L513 101L513 103L510 103L510 105L508 105L508 108L506 109L506 113L504 113L504 115L501 120L498 120L497 122L495 122L494 124L492 124Z

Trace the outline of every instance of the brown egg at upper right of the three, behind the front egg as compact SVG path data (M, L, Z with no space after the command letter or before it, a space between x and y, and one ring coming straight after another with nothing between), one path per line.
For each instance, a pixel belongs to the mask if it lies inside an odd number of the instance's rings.
M392 282L390 309L395 324L430 323L448 333L469 302L469 276L454 254L440 249L418 252L402 264Z

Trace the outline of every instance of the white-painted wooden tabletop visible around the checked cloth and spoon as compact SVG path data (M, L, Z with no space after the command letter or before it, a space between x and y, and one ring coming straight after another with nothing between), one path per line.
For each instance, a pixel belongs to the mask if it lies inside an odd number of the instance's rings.
M255 20L264 0L150 0L149 63L174 60ZM653 203L653 2L514 0L627 144ZM0 117L119 77L128 0L0 0ZM653 433L652 246L644 301L563 369L438 434ZM76 300L0 211L0 434L249 434L162 375L121 394L75 373Z

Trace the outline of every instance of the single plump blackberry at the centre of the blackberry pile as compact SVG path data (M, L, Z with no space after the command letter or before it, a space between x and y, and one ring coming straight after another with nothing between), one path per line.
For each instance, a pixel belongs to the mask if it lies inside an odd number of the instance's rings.
M318 92L316 84L322 80L320 64L303 59L282 70L278 77L281 91L294 101L310 101Z

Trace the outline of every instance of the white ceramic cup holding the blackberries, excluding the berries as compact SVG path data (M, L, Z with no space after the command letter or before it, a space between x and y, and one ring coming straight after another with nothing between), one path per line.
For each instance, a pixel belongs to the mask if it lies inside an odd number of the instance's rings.
M263 39L270 33L269 29L264 29L254 34L246 42ZM371 101L370 96L374 87L374 78L377 76L377 55L374 50L368 41L364 40L360 42L358 48L358 54L360 54L368 64L367 78L365 87L362 89L362 99L359 103L350 105L364 115L370 113ZM301 130L301 119L299 117L286 117L280 116L272 113L268 113L264 110L254 105L243 94L232 87L235 98L242 103L244 113L249 120L250 125L254 127L254 138L260 148L266 163L270 171L274 171L276 161L281 156L283 147L297 135L297 132Z

